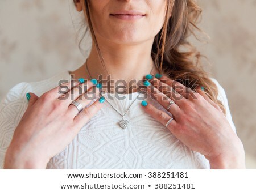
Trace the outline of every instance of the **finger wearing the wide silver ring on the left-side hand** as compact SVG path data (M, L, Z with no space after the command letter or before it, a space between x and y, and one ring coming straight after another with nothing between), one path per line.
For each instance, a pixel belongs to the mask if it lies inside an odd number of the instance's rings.
M82 105L82 108L85 108L87 105L93 102L93 100L95 101L98 98L99 93L100 90L96 88L96 86L93 86L84 94L80 95L75 101L78 101ZM71 102L68 106L68 113L70 116L75 117L79 111L76 106L71 105Z

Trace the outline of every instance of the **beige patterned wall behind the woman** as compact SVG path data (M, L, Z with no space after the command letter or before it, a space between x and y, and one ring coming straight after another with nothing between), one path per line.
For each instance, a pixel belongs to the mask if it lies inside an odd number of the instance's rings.
M197 45L212 63L206 69L226 90L247 168L256 168L256 1L199 4L200 27L211 39ZM71 19L77 27L79 16L72 0L0 1L0 99L19 82L46 79L82 65L86 53L80 53Z

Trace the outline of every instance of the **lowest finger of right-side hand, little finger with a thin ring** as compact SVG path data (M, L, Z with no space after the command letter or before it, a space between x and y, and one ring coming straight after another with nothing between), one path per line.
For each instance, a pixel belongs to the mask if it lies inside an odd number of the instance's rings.
M144 104L146 103L146 106ZM166 123L170 120L171 116L169 116L166 112L163 112L162 110L159 110L155 108L154 105L148 103L147 101L142 101L142 108L145 110L146 113L150 114L155 120L162 123L162 125L166 126ZM173 132L175 131L175 128L177 127L177 122L175 119L173 119L167 128Z

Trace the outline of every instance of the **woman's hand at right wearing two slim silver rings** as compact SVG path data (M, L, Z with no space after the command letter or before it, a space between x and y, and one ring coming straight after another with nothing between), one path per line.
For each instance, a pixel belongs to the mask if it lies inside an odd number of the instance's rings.
M193 151L204 155L211 169L245 169L243 144L232 130L220 107L197 88L192 91L167 76L148 80L148 93L165 109L171 100L175 101L168 110L174 118L167 128ZM144 110L163 125L171 116L148 103Z

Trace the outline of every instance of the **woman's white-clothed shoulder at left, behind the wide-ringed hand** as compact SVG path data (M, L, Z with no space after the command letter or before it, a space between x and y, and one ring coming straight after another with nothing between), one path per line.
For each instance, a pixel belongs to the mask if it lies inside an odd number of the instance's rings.
M63 70L50 78L36 82L20 82L12 87L0 101L0 168L7 147L11 142L14 130L27 109L27 92L35 93L38 97L44 92L57 87L61 80L70 80L69 71Z

